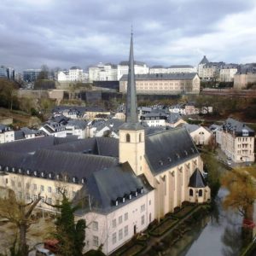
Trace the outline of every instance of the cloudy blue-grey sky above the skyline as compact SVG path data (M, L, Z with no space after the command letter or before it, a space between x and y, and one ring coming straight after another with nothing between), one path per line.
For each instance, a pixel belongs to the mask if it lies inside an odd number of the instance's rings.
M255 0L1 0L0 65L256 62Z

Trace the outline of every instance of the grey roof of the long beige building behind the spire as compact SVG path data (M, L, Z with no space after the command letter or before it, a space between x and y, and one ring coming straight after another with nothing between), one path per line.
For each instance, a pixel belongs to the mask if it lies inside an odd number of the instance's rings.
M194 79L197 73L147 73L137 74L135 79L137 81L144 80L191 80ZM127 81L127 75L123 75L120 81Z

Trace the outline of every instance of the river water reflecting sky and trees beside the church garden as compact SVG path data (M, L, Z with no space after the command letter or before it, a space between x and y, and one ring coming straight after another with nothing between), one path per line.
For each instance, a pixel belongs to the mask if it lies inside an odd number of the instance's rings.
M192 225L191 231L162 255L239 255L242 218L236 212L224 211L221 201L226 194L226 190L220 189L211 215Z

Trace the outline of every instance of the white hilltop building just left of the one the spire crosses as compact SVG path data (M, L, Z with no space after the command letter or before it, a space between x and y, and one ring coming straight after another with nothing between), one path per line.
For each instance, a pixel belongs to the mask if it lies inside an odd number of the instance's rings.
M100 62L96 66L89 67L89 81L116 81L117 67L111 63Z

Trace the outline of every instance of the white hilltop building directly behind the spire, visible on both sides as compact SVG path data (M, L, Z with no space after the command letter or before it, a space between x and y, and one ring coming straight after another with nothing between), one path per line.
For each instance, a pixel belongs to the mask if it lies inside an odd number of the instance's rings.
M129 62L121 61L117 67L117 79L121 79L123 75L127 75L129 71ZM134 61L134 73L135 74L147 74L149 73L149 67L146 63L141 61Z

